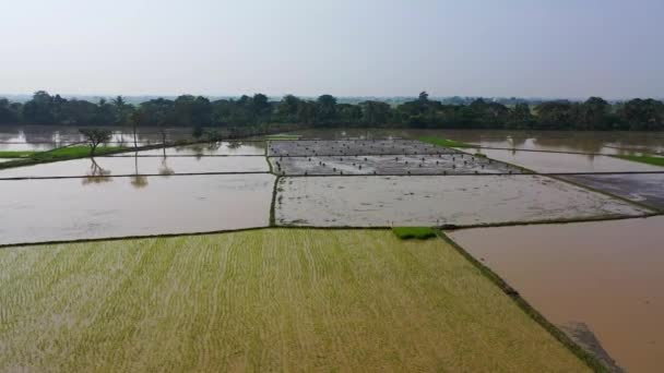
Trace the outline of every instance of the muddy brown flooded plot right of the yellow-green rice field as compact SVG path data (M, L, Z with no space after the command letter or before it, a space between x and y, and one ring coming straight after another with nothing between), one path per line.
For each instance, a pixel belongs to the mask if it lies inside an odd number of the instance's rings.
M583 323L630 372L661 372L664 217L450 236L559 325Z

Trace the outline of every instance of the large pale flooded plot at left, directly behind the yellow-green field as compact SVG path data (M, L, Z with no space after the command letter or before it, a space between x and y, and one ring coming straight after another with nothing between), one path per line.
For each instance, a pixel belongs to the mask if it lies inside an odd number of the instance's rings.
M0 181L0 244L269 225L271 175Z

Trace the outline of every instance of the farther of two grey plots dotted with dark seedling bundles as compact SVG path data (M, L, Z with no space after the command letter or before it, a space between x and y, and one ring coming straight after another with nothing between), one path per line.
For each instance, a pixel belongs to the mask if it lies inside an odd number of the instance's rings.
M270 141L270 157L316 157L355 155L438 155L458 151L434 146L414 140L298 140Z

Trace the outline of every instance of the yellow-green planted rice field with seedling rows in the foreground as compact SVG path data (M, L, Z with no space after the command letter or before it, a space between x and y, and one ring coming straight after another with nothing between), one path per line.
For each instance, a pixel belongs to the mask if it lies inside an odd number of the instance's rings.
M0 371L579 372L443 240L263 229L0 250Z

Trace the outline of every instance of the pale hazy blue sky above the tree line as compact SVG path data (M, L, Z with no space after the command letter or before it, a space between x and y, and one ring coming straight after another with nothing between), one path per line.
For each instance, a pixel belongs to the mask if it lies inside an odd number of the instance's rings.
M5 0L0 93L664 97L663 0Z

